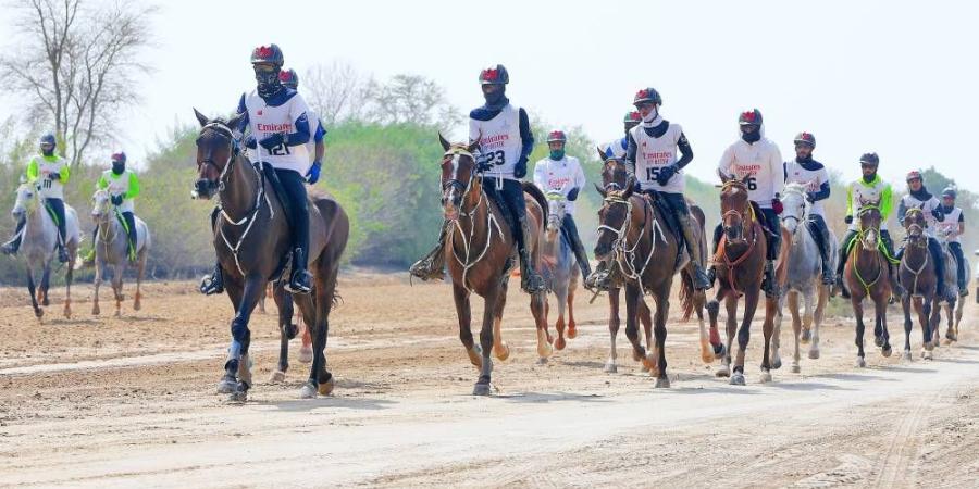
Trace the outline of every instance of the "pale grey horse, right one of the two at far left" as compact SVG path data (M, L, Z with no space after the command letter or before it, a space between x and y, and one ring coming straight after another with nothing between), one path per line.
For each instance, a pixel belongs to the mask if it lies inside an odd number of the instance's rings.
M122 279L129 263L128 238L122 216L112 206L112 198L104 189L96 190L91 196L91 218L95 221L97 233L92 247L96 250L95 259L95 291L91 298L91 313L99 315L99 287L106 276L106 269L112 268L112 293L115 298L115 317L122 316ZM150 249L149 227L139 217L136 221L136 296L133 298L133 309L139 311L142 308L142 277L146 273L146 260Z

